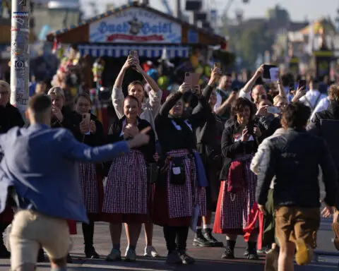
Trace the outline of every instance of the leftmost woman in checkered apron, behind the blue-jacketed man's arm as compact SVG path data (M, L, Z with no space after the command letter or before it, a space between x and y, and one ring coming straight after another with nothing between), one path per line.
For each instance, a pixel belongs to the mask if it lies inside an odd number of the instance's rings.
M96 116L90 114L90 96L81 93L75 99L75 111L69 114L73 127L71 131L74 137L81 143L89 146L98 146L105 143L104 130ZM102 164L87 162L79 163L79 181L83 202L88 212L90 224L82 224L83 239L85 242L86 258L99 258L93 247L94 222L101 221L103 190L103 167Z

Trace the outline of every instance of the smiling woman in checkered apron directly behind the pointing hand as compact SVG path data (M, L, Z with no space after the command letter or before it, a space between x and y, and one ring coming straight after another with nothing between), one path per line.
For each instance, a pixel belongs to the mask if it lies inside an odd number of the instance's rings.
M134 96L124 100L124 116L109 129L109 143L128 140L150 123L138 117L141 104ZM150 220L151 185L148 181L147 166L155 155L155 133L148 132L148 145L132 149L128 155L116 157L109 168L102 217L109 222L112 239L112 251L107 261L121 260L120 239L122 223L125 223L128 247L126 261L136 261L136 244L141 225Z

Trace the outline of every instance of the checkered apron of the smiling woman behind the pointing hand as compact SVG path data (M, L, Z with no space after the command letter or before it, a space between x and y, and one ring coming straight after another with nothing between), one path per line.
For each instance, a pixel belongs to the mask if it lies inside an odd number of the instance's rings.
M102 212L147 215L147 169L142 152L131 150L113 160Z

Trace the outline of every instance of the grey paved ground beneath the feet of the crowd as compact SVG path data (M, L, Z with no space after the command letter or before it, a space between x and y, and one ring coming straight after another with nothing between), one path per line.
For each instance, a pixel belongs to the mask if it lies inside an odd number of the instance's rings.
M318 235L318 251L327 251L335 253L335 248L331 243L333 234L330 229L331 221L324 219L321 223L321 230ZM245 244L239 238L236 247L236 257L235 260L222 260L220 255L223 252L222 248L196 248L191 246L193 240L193 233L190 233L189 236L189 254L196 258L197 262L195 265L191 266L171 266L165 263L165 258L157 259L145 259L142 256L138 258L137 263L107 263L105 262L105 255L107 255L111 249L110 237L108 225L105 223L97 223L95 228L95 248L97 252L102 255L99 260L85 260L83 255L83 239L81 234L81 225L78 224L78 235L73 236L73 249L71 255L73 257L73 264L69 265L69 270L88 270L88 271L108 271L108 270L138 270L138 271L172 271L172 270L194 270L194 271L206 271L211 270L242 270L242 271L262 271L263 270L263 257L258 261L249 261L242 258L242 253L244 252ZM223 241L223 236L216 236L220 241ZM57 238L57 236L56 236ZM121 238L121 251L124 251L126 247L126 238L122 234ZM138 243L137 253L138 255L143 254L143 248L145 245L144 234L141 233L141 239ZM157 251L162 255L166 255L165 242L162 236L162 229L160 227L155 227L155 237L154 237L154 246L157 248ZM307 267L296 266L296 271L331 271L338 270L338 256L332 258L325 256L319 257L319 263L315 261ZM0 270L9 269L9 260L0 260ZM37 270L49 270L48 263L41 263L38 266Z

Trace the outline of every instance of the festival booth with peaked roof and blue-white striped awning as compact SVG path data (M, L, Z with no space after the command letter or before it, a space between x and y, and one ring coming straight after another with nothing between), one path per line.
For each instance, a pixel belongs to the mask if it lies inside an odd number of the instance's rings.
M190 57L192 48L225 43L224 37L137 2L51 33L47 40L78 44L81 56L103 57L102 80L107 86L113 85L130 50L138 52L141 63L165 57L177 66Z

